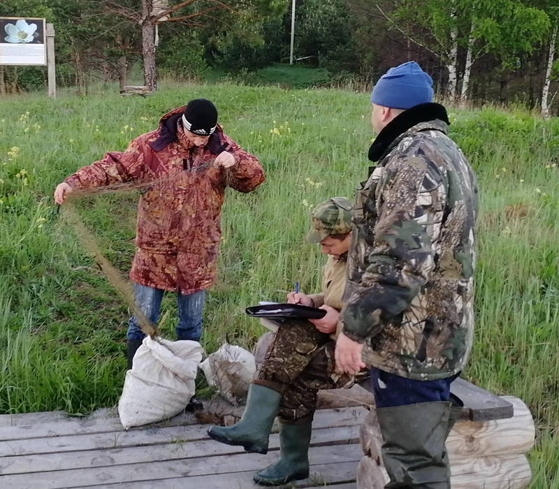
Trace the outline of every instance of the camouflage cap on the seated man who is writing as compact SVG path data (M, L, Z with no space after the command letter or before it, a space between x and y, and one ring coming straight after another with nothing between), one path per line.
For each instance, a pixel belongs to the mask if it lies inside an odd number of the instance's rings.
M351 231L351 202L345 197L331 197L319 203L311 212L307 240L319 243L330 235Z

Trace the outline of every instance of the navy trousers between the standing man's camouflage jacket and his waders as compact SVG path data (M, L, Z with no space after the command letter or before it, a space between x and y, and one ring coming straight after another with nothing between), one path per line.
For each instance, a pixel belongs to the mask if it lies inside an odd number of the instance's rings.
M370 381L377 408L395 407L419 402L449 402L450 384L458 375L423 381L406 379L372 367Z

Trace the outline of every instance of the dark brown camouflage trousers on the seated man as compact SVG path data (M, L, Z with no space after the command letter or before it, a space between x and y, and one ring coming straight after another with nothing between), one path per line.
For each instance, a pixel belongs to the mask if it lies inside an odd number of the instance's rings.
M281 421L296 423L312 416L320 389L351 387L354 375L335 372L335 341L312 323L291 320L279 326L263 364L259 380L282 384Z

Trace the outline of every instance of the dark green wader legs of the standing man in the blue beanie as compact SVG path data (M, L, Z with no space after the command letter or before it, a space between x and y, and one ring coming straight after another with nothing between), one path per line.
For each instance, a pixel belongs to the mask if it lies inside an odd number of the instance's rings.
M450 402L422 402L377 409L384 444L385 489L450 489L444 446Z

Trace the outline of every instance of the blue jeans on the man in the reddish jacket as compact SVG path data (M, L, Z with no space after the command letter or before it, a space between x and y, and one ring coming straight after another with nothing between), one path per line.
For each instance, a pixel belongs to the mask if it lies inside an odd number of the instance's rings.
M159 309L164 291L154 289L145 285L134 284L134 296L136 304L153 324L157 324L159 319ZM179 322L177 324L178 340L200 341L202 335L202 311L204 309L205 291L198 291L189 295L182 295L177 292L177 309ZM128 340L143 340L145 335L142 333L138 320L132 316L128 321Z

